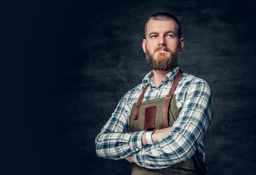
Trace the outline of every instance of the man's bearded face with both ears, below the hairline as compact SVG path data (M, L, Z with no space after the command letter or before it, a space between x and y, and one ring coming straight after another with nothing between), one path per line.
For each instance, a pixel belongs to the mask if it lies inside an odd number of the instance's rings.
M168 70L177 63L184 47L184 38L177 36L177 24L174 20L150 20L147 36L142 48L153 70Z

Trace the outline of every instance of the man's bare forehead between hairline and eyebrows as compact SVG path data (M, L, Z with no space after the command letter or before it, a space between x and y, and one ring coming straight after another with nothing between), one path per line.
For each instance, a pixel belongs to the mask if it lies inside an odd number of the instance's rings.
M174 20L158 21L150 20L147 24L147 35L152 32L164 33L166 31L173 31L177 34L177 23Z

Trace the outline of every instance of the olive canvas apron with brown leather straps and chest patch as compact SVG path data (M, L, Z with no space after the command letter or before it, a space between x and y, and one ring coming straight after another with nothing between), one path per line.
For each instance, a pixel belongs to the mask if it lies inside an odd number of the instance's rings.
M142 92L138 103L135 103L132 107L130 117L129 117L129 132L143 131L148 127L155 127L156 129L163 129L168 126L173 126L174 121L179 116L179 110L175 102L175 94L172 94L176 88L177 82L179 81L182 71L177 74L172 88L164 98L157 98L154 100L141 102L144 92ZM174 86L174 87L173 87ZM171 94L170 94L171 93ZM168 101L168 100L169 101ZM165 111L164 106L167 100L167 111L166 116L168 116L168 121L164 121ZM152 121L152 118L153 119ZM151 120L151 121L150 121ZM167 124L166 124L167 123ZM152 126L153 125L153 126ZM168 125L168 126L166 126ZM191 159L180 162L178 164L172 165L168 168L162 169L148 169L138 166L136 163L130 163L131 175L206 175L207 169L205 168L204 162L202 160L201 154L198 150L192 156Z

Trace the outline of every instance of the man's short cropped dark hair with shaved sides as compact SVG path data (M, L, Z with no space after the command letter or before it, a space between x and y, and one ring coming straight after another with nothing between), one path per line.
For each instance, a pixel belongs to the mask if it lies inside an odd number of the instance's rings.
M145 25L145 37L147 37L147 25L150 20L157 20L157 21L174 20L178 25L177 35L178 35L179 39L181 38L181 26L180 26L179 20L174 15L172 15L170 13L166 13L166 12L155 13L148 18L146 25Z

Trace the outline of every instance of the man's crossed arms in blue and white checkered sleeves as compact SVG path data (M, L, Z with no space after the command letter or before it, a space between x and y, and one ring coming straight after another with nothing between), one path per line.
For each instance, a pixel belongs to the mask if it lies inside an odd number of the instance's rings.
M129 103L129 91L97 136L97 155L107 159L126 159L153 169L166 168L191 158L197 149L202 149L211 122L211 90L205 81L197 81L191 83L184 96L180 115L173 127L156 130L152 134L155 144L148 145L144 131L128 132L133 104Z

